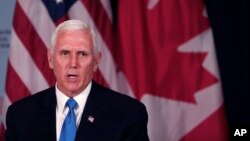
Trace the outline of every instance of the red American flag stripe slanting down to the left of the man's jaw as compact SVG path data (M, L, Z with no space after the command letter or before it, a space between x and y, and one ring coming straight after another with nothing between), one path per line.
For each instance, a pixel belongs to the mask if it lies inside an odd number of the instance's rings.
M27 51L33 58L35 64L44 75L48 84L54 84L54 75L52 73L52 70L48 67L49 65L47 61L47 48L39 38L36 30L30 23L29 19L23 12L18 2L16 4L14 13L13 27L16 31L17 36L19 36L20 40L23 42ZM34 47L33 45L36 45L36 47Z

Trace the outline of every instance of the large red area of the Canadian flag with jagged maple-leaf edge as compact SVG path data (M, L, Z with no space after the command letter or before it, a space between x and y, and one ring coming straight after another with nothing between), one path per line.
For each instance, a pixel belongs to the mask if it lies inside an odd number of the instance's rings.
M138 99L149 93L195 103L195 92L218 81L202 67L207 53L177 51L209 27L201 0L164 0L151 10L128 0L118 10L116 61Z

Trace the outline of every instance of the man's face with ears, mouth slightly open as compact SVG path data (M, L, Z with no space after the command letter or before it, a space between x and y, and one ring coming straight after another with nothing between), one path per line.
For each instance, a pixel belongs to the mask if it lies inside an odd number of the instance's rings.
M92 39L86 30L62 30L53 50L48 51L50 68L54 69L57 86L69 97L82 92L93 78L100 62L94 54Z

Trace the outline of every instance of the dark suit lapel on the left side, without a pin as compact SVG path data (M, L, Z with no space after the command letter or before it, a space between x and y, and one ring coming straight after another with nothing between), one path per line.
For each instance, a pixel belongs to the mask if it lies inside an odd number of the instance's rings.
M49 89L41 106L41 115L38 117L40 138L37 140L56 140L56 95L55 87ZM36 129L34 129L36 130Z

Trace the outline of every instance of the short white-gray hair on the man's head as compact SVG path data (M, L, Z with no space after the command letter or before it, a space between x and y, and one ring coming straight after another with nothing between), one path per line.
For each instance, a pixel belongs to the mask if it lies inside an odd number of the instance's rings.
M64 21L63 23L59 24L56 29L54 30L54 32L52 33L51 36L51 49L53 52L53 48L55 46L56 43L56 39L58 36L58 32L62 31L62 30L76 30L76 29L83 29L83 30L87 30L89 31L91 37L92 37L92 45L94 48L94 53L96 54L97 52L99 52L99 47L97 46L96 43L96 36L95 36L95 31L93 28L90 27L90 25L80 21L80 20L67 20Z

